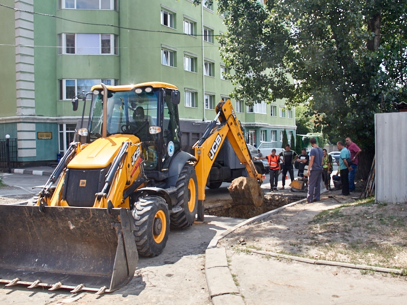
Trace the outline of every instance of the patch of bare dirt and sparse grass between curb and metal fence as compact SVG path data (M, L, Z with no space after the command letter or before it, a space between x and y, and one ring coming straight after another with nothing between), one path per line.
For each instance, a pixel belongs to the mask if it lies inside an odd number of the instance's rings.
M353 195L358 198L359 194ZM239 242L242 238L246 245ZM373 198L354 200L341 196L340 191L328 192L322 195L322 202L296 204L243 226L219 245L407 273L407 203L375 204Z

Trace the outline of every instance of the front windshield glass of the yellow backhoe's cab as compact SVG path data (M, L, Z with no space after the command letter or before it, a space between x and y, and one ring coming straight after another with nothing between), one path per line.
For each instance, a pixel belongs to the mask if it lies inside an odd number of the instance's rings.
M109 91L107 99L107 135L147 136L157 122L158 91L136 94L133 91ZM103 95L93 96L91 107L91 141L102 136ZM143 140L143 139L142 139Z

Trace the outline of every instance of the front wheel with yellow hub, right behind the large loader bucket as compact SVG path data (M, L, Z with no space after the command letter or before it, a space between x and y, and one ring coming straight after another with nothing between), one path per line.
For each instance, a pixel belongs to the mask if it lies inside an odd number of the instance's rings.
M169 212L158 196L141 197L134 203L134 239L140 256L158 256L165 248L169 233Z

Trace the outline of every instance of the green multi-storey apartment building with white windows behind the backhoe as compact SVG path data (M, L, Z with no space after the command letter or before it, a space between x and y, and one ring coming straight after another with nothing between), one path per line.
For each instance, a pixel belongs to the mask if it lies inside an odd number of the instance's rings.
M192 135L212 120L233 85L222 72L216 35L226 31L217 3L190 0L3 0L0 6L0 140L17 139L21 165L56 160L73 140L81 106L71 98L91 86L162 81L182 93L181 128ZM233 101L251 144L295 133L284 102L247 107ZM89 102L85 115L89 113ZM194 133L195 131L195 133Z

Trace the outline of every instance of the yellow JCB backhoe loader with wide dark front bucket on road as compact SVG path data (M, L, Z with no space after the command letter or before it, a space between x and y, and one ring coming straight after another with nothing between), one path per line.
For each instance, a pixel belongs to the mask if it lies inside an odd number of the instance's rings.
M0 206L6 286L101 294L127 284L138 255L163 251L170 224L189 227L196 214L203 220L208 175L226 137L248 175L261 182L230 101L218 104L192 156L180 148L176 86L101 84L82 100L89 95L82 144L71 143L37 204Z

